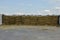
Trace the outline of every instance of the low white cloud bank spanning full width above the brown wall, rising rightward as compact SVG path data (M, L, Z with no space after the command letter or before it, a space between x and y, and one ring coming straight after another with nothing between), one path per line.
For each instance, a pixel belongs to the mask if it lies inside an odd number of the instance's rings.
M60 7L55 7L54 9L46 9L42 11L37 11L33 13L17 12L17 13L0 13L5 15L60 15Z

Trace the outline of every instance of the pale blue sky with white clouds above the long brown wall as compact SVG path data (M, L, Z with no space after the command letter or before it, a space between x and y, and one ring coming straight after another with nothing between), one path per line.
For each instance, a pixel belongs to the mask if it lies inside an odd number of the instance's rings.
M60 0L0 0L0 14L60 15Z

